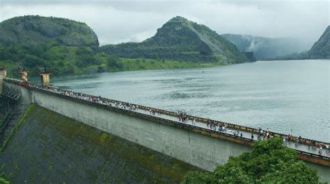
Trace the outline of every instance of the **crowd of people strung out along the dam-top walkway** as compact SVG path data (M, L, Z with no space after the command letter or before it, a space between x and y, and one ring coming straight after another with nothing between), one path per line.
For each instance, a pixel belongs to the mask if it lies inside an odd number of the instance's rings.
M15 83L19 83L19 80L13 80ZM94 103L100 103L100 104L104 104L107 106L114 106L116 108L122 108L125 110L136 110L136 109L141 109L141 110L146 110L146 109L142 109L141 107L139 107L138 105L134 105L131 103L125 103L125 102L120 102L120 101L113 101L110 99L104 99L102 97L95 97L93 95L89 95L89 94L83 94L80 92L72 92L69 90L63 90L57 87L43 87L42 85L36 85L33 83L29 83L29 87L33 87L33 88L38 88L40 90L47 90L50 92L55 92L58 94L63 94L65 96L69 96L69 97L74 97L77 99L82 99L85 101L92 101ZM157 109L155 108L149 108L149 112L150 115L156 115ZM159 114L159 112L158 112ZM196 125L196 119L189 117L189 115L187 115L185 112L182 111L177 111L176 112L177 116L178 116L178 122L182 122L182 123L187 123L189 121L189 118L191 120L191 124L192 125ZM244 132L240 132L237 129L233 129L233 128L228 128L226 124L221 123L221 122L215 122L213 120L207 119L206 122L206 126L207 128L210 128L210 130L213 131L219 131L221 133L228 133L231 135L235 135L237 137L246 137L249 136L249 133L244 133ZM267 138L271 138L274 137L274 133L270 132L270 131L264 131L262 130L262 128L258 128L257 132L257 140L264 140ZM330 151L329 151L329 144L324 144L322 142L316 142L314 140L306 140L304 138L302 138L301 136L299 137L294 137L292 135L283 135L283 142L285 142L285 144L291 144L294 143L294 145L296 147L299 147L299 144L306 144L308 146L308 149L311 147L312 149L317 149L317 153L319 155L322 155L322 150L325 150L325 155L326 156L330 156ZM254 135L253 133L251 133L251 140L254 140Z

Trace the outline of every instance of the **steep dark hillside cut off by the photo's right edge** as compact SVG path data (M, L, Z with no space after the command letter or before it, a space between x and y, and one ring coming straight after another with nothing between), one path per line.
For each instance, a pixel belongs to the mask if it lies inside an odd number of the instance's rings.
M326 28L320 39L309 51L311 58L330 58L330 26Z

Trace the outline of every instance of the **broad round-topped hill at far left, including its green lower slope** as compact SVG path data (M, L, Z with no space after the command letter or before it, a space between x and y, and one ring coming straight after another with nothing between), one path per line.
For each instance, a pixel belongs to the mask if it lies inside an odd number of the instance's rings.
M0 33L0 63L9 76L17 75L19 66L36 76L38 67L53 74L83 74L101 65L97 35L85 23L29 15L0 22Z

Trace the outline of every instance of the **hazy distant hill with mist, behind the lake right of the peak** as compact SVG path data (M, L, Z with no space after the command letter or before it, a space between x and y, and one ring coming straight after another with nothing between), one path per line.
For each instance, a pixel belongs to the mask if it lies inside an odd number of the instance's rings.
M253 51L258 59L276 58L308 50L308 43L292 38L270 38L251 35L223 34L242 51Z

